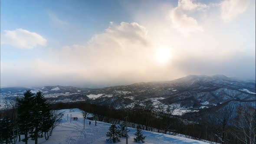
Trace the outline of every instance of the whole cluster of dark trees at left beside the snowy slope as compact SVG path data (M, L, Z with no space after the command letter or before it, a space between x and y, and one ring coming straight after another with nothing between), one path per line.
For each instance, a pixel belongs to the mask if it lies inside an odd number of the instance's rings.
M1 111L0 143L16 144L17 140L28 143L29 138L38 143L38 138L46 140L61 121L62 114L52 111L42 92L30 90L16 101L5 101L6 109ZM24 138L21 139L21 135Z

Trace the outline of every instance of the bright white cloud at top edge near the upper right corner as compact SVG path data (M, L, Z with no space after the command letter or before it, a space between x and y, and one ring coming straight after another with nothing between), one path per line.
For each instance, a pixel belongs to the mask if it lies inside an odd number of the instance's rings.
M249 6L250 0L223 0L220 3L221 17L229 22L241 13L244 13Z

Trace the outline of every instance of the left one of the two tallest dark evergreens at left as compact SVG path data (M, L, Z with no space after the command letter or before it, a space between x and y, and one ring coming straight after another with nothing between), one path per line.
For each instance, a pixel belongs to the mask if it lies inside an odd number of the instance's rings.
M32 117L32 108L34 107L34 94L27 90L24 93L24 97L17 99L18 101L18 124L20 132L24 134L25 138L22 140L27 144L28 134L33 129L33 117Z

